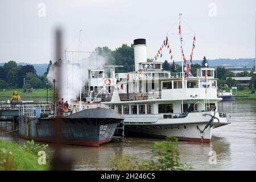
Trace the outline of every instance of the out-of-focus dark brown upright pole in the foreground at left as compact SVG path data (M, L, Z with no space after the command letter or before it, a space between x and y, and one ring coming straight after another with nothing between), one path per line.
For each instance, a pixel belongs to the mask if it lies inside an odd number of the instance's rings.
M62 50L62 31L60 28L57 28L55 32L56 38L56 92L55 92L55 103L54 105L57 106L57 102L59 100L59 93L61 89L62 83L62 71L61 71L61 50ZM54 144L54 151L51 163L52 170L71 170L72 169L72 160L65 156L63 150L61 150L61 140L63 140L63 119L59 116L53 119L54 122L54 133L55 133L55 144Z

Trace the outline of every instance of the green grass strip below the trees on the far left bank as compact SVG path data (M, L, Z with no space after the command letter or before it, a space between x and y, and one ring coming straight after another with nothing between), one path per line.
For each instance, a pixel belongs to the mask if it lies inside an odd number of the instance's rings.
M15 90L19 93L19 96L23 101L46 101L46 89L33 89L32 93L23 93L23 89L7 89L5 91L0 91L0 101L10 100ZM48 89L48 101L53 101L52 89Z

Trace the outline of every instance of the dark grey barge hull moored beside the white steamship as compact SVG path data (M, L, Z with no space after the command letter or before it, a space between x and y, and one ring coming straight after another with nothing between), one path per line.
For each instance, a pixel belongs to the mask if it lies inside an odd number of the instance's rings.
M55 130L57 119L60 121L58 131ZM16 125L12 125L12 122L0 123L7 131L17 130L20 137L38 142L56 142L56 133L59 133L59 143L100 146L112 140L115 129L122 120L121 115L113 110L97 108L82 110L67 117L20 117Z

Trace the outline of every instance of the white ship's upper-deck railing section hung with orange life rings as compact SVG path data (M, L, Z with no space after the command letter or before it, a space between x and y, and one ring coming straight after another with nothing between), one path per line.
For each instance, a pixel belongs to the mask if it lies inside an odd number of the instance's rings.
M155 100L162 98L162 93L152 91L147 93L119 93L121 101Z

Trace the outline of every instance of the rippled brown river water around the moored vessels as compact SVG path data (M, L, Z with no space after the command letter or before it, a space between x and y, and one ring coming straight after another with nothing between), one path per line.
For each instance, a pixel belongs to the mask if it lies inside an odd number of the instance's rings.
M193 170L256 170L256 101L222 101L219 110L230 113L232 124L214 129L211 143L179 142L181 162L191 164ZM0 139L20 144L26 141L3 134ZM123 142L100 147L63 145L63 149L73 156L73 169L101 170L108 169L113 154L148 158L154 142L160 140L126 137Z

